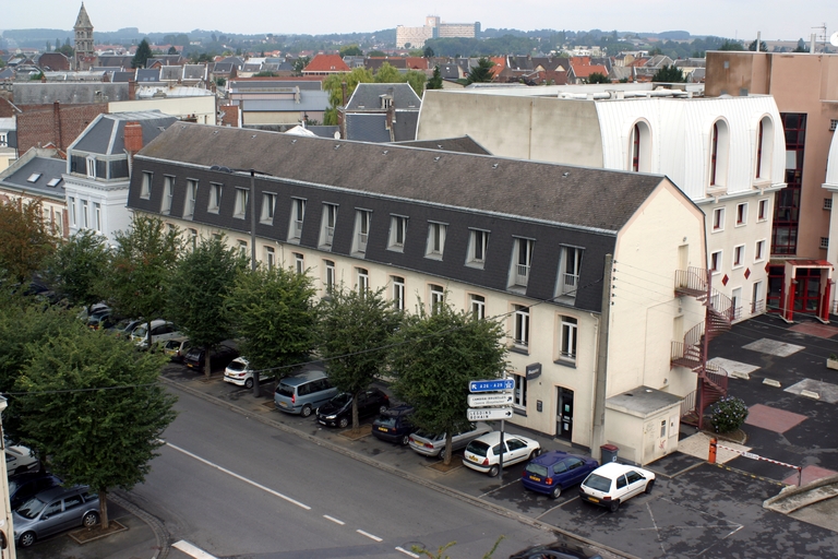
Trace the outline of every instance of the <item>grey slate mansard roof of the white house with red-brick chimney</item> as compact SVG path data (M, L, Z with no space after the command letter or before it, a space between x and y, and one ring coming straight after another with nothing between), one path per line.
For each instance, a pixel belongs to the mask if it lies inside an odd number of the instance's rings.
M68 147L68 152L123 155L125 123L140 123L143 128L143 145L146 145L177 120L176 117L169 117L159 110L99 115Z

